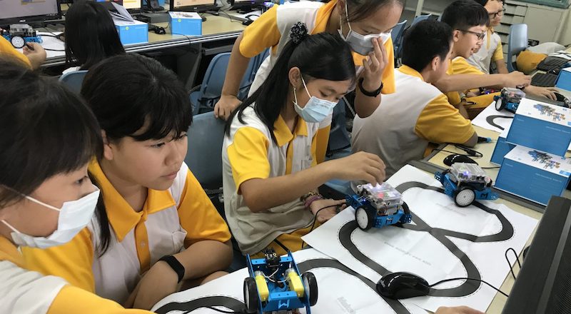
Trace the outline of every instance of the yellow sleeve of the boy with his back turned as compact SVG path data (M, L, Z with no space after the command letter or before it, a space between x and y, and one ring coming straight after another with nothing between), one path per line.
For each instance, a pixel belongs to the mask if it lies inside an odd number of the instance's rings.
M474 132L470 120L461 116L445 95L430 101L415 125L415 133L433 143L465 143Z

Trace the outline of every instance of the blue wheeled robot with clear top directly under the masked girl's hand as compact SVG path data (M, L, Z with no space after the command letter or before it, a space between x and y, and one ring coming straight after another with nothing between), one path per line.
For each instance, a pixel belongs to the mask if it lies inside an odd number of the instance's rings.
M388 183L357 186L357 194L347 196L346 200L348 206L355 208L355 221L364 231L412 220L402 195Z

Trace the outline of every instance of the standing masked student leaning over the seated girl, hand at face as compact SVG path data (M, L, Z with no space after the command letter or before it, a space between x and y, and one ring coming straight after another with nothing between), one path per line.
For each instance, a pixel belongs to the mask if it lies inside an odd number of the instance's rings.
M380 103L380 91L393 93L395 82L393 77L394 56L393 42L390 39L391 29L398 23L403 12L402 0L332 0L327 4L317 1L300 1L275 5L266 11L259 19L246 27L238 36L232 49L230 64L226 71L226 79L220 101L216 103L214 113L216 116L227 119L230 113L238 106L238 87L248 66L248 61L271 48L271 54L263 61L256 72L256 78L250 88L250 95L266 80L269 72L276 64L283 46L289 40L289 30L295 23L305 24L310 34L327 32L340 36L353 47L353 61L359 68L359 77L363 78L362 88L355 91L355 111L359 116L369 116ZM353 34L349 34L350 33ZM381 39L373 44L384 49L384 55L369 54L373 51L370 39L360 41L363 35L381 35ZM383 45L383 39L386 39ZM380 44L379 44L380 43ZM369 56L367 56L369 55ZM375 60L371 60L371 58ZM370 71L368 61L380 63L375 71ZM367 64L363 69L363 64ZM362 90L370 92L366 96ZM379 91L377 93L377 91ZM318 163L325 158L325 151L329 141L331 117L324 119L320 124L318 133L317 156Z

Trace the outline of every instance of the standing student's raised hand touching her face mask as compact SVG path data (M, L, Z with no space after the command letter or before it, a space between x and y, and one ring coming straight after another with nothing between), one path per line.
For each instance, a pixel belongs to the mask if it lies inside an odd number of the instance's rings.
M383 45L383 39L371 39L373 51L367 59L363 59L363 72L360 74L365 91L376 91L383 82L383 71L388 64L387 49Z

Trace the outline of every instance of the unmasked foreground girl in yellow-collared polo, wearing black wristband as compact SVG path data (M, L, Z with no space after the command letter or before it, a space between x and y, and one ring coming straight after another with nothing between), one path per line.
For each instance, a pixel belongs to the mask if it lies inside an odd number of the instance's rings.
M223 275L230 233L183 163L192 116L176 75L153 59L113 56L89 70L81 94L103 129L103 158L89 167L97 214L70 243L24 251L26 263L143 309L182 280Z

